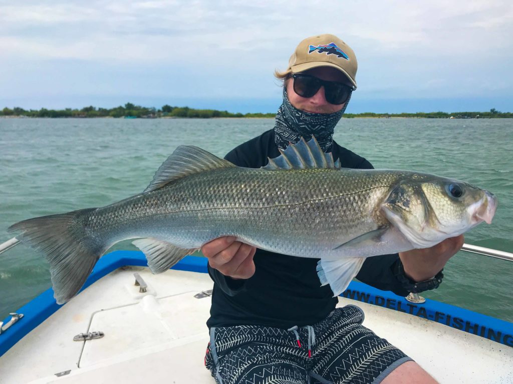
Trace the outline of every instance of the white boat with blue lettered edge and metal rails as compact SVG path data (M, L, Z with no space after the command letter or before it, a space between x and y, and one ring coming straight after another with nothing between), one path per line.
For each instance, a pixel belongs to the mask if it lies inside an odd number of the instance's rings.
M508 252L462 250L513 261ZM195 255L156 275L140 251L104 255L65 305L50 288L0 324L0 383L214 383L204 367L206 272ZM513 383L513 323L356 281L339 296L338 306L348 304L441 383Z

